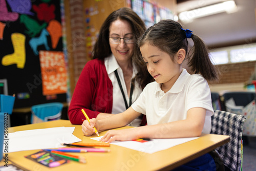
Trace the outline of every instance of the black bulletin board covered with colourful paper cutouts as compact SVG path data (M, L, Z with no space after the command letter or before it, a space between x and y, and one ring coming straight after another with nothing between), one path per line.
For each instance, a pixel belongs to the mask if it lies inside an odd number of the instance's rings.
M60 0L0 0L0 79L14 108L67 101L60 8Z

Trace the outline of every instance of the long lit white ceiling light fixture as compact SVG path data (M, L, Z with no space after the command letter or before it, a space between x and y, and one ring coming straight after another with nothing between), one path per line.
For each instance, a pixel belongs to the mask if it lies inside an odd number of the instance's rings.
M193 19L221 12L232 13L237 11L237 5L234 1L225 1L219 4L214 4L202 8L197 8L190 11L184 11L179 14L179 19L183 23L191 23Z

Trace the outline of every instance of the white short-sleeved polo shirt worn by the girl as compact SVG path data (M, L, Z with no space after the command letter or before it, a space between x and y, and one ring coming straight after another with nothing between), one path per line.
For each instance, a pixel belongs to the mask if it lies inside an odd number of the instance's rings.
M164 93L160 86L157 82L147 84L132 104L135 111L146 115L148 125L184 120L189 109L200 107L206 109L202 133L210 133L214 110L208 83L201 75L190 75L183 69L168 92Z

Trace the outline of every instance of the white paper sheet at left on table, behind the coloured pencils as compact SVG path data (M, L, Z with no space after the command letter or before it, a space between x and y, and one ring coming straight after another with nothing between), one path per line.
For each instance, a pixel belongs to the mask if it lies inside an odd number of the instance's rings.
M61 143L81 141L73 135L74 130L75 127L62 126L10 133L8 134L8 153L32 149L57 148L63 147Z

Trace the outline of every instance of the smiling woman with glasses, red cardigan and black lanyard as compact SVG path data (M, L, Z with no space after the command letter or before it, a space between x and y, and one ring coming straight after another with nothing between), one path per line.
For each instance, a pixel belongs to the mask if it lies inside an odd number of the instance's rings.
M87 62L76 84L68 115L72 124L89 118L102 119L125 111L153 79L143 60L136 57L144 22L129 8L111 13L101 26L93 60ZM131 126L141 125L139 116Z

